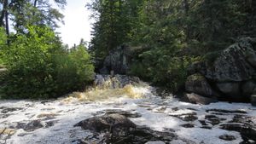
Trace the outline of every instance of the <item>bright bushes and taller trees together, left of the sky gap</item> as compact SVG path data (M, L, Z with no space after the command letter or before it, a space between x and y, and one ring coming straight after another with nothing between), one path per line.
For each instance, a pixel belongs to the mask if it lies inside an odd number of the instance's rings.
M65 0L55 1L61 8ZM1 98L45 99L84 89L93 78L85 44L67 49L54 32L63 18L48 1L1 1L0 76ZM9 32L9 15L14 33Z

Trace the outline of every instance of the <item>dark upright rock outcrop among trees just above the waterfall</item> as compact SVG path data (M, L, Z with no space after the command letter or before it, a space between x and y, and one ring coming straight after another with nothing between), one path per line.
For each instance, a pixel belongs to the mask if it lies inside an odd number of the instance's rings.
M120 46L118 49L110 52L100 70L102 74L109 74L111 71L117 74L126 74L131 61L131 52L126 46Z

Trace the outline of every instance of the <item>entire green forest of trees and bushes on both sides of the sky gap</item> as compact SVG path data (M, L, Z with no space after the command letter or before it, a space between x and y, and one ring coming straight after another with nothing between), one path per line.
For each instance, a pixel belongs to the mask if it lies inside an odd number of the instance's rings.
M65 8L65 0L55 3ZM1 77L2 98L41 99L83 89L94 66L97 72L122 45L133 55L127 74L177 92L192 63L212 61L237 39L256 33L252 0L94 0L84 8L96 20L89 48L81 41L68 49L55 32L64 15L48 1L1 5L0 62L8 69Z

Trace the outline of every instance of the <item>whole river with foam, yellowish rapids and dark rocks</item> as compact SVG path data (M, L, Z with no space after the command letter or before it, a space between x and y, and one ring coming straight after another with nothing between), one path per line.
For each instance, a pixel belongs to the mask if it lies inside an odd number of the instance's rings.
M143 84L58 100L0 101L0 143L256 143L256 107L190 104L153 91Z

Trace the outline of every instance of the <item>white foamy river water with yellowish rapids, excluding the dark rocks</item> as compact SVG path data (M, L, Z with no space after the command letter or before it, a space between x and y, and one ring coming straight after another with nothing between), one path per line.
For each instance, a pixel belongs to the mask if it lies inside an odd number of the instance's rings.
M182 114L196 112L199 119L205 118L207 109L242 110L247 112L247 116L255 117L256 110L249 104L218 102L211 105L194 105L181 101L173 97L161 99L151 93L149 86L136 87L128 85L123 89L92 89L84 93L73 93L66 98L55 101L0 101L0 110L4 108L17 108L13 112L1 114L1 130L6 131L1 136L0 143L9 144L70 144L77 139L83 139L86 135L92 135L88 130L81 130L73 127L85 118L91 118L99 113L104 114L104 110L123 110L138 112L140 118L131 118L138 125L147 125L154 130L172 129L181 139L188 139L195 143L204 142L206 144L238 144L241 135L236 131L218 129L201 129L198 121L189 122L195 124L194 128L183 128L181 124L187 124L179 118L174 118L172 114ZM174 110L175 109L175 110ZM194 109L194 110L193 110ZM8 114L8 115L6 115ZM7 116L7 117L6 117ZM227 121L234 115L221 116ZM27 123L32 120L41 120L43 128L34 131L15 129L19 123ZM49 122L54 122L53 126L46 127ZM234 135L236 140L224 141L218 138L219 135ZM9 137L6 137L9 135ZM183 143L181 140L172 143Z

